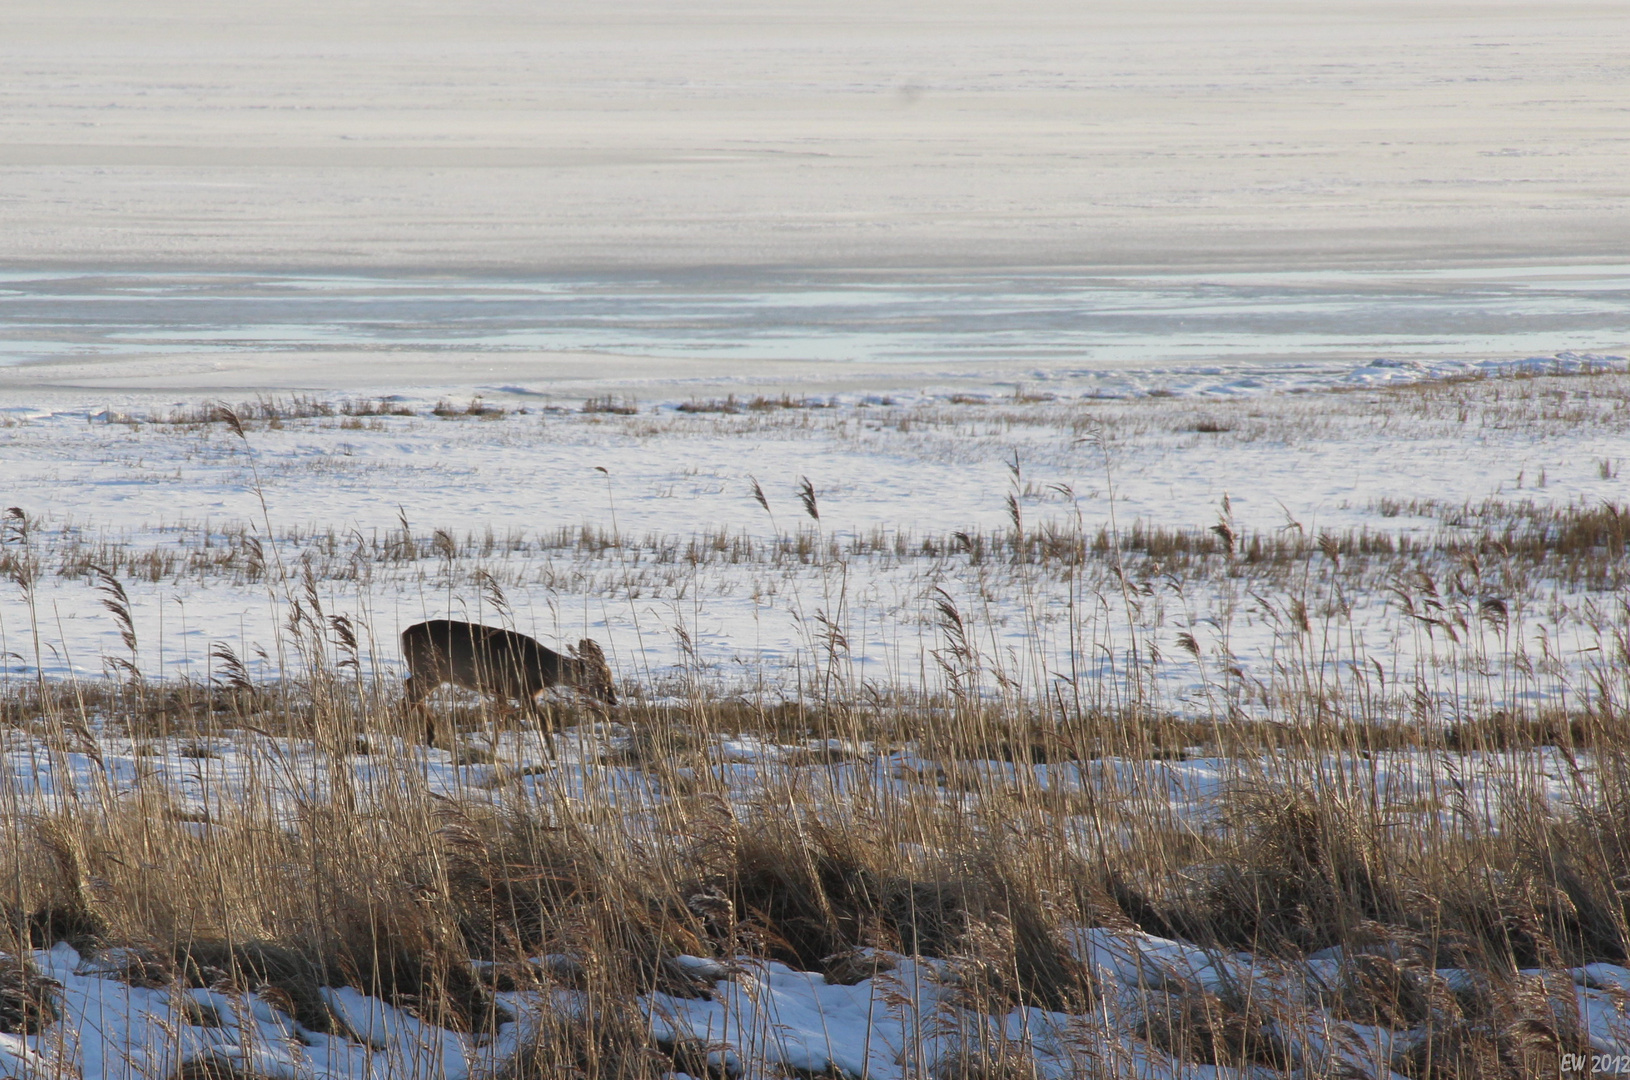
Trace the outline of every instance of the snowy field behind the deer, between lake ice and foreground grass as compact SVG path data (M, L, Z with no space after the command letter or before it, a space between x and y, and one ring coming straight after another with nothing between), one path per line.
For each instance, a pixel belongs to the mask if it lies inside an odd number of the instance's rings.
M1490 555L1467 577L1433 546L1500 534L1513 515L1622 502L1623 360L1490 362L1472 371L1488 378L1420 393L1386 388L1430 373L1408 365L1346 368L1325 393L1283 393L1273 365L1255 371L1267 386L1250 393L903 388L725 414L685 412L694 397L619 415L494 391L482 402L499 412L484 417L461 414L466 397L434 415L437 399L414 394L390 402L412 415L347 417L357 396L329 393L316 399L334 415L251 422L243 438L218 422L145 422L204 415L199 399L51 391L0 428L3 500L31 515L26 551L44 569L33 609L15 588L0 598L0 652L13 678L36 660L99 674L108 656L207 678L227 642L271 676L310 572L381 674L398 670L403 627L450 616L595 637L619 679L652 694L694 678L784 692L835 658L822 642L836 626L854 686L923 689L942 671L944 599L985 676L1032 691L1058 673L1102 683L1143 642L1162 656L1162 704L1187 713L1239 704L1288 658L1338 683L1353 665L1394 684L1418 673L1449 713L1576 700L1623 622L1610 569L1593 585ZM1537 373L1555 378L1518 378ZM818 518L799 497L805 477ZM1206 536L1226 520L1240 536L1368 529L1423 551L1350 555L1345 570L1312 544L1291 564L1131 552L1071 569L998 552L1014 511L1025 536L1087 547L1138 528ZM86 575L98 565L122 578L134 653ZM1495 601L1504 617L1490 621ZM1439 632L1416 617L1426 608L1459 622ZM1312 612L1306 629L1296 611ZM1224 686L1229 668L1242 683Z

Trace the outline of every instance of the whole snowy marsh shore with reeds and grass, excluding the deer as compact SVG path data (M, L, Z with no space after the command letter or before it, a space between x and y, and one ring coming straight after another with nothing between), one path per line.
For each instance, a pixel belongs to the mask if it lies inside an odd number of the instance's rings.
M253 502L7 518L3 1049L46 1075L90 1072L88 1039L142 1075L1553 1075L1630 1039L1630 513L1558 490L1615 482L1589 440L1627 389L357 410L394 440L613 424L628 461L774 438L1001 469L978 513L901 481L893 525L843 476L742 471L742 513L688 533L610 469L603 520L290 521L298 454L267 440L368 437L344 406L103 425L191 440L183 468ZM1205 459L1307 469L1355 428L1408 461L1467 425L1550 440L1545 487L1390 485L1317 525L1239 476L1162 520L1128 464L1227 440ZM165 595L207 630L153 642ZM443 691L425 731L401 595L606 632L623 704Z

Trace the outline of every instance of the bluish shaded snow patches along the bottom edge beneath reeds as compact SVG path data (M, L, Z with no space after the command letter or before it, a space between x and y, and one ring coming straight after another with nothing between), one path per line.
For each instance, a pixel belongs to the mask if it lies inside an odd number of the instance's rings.
M1330 1016L1315 994L1296 989L1320 982L1312 964L1258 961L1249 953L1208 955L1126 930L1079 930L1076 943L1097 974L1102 997L1097 1012L1082 1016L1040 1008L980 1013L960 1002L955 969L947 961L887 953L880 959L888 969L854 986L831 984L818 972L776 961L740 958L725 969L717 961L681 956L681 966L716 976L711 995L654 994L642 999L642 1007L654 1039L694 1039L712 1064L747 1077L774 1075L764 1070L784 1067L903 1078L945 1057L976 1052L981 1044L1027 1046L1045 1077L1081 1075L1092 1062L1115 1062L1125 1075L1139 1077L1234 1075L1177 1062L1131 1034L1151 1000L1195 984L1250 994L1263 1015L1276 1018L1271 1030L1307 1070L1389 1078L1394 1073L1387 1062L1425 1038L1425 1030L1392 1031ZM176 990L126 986L68 945L36 951L33 961L60 984L62 1026L72 1034L0 1036L0 1060L20 1077L59 1075L64 1064L83 1077L168 1075L183 1060L214 1056L266 1077L458 1080L513 1052L525 1038L525 1016L579 1007L572 990L505 992L499 997L523 1020L505 1025L497 1038L476 1038L432 1028L352 987L337 987L324 990L324 997L347 1034L324 1034L300 1028L254 995L189 990L218 1016L220 1026L212 1028L191 1023L196 1015L178 1010ZM1627 995L1599 986L1627 981L1630 971L1610 964L1575 972L1579 1018L1596 1052L1630 1052Z

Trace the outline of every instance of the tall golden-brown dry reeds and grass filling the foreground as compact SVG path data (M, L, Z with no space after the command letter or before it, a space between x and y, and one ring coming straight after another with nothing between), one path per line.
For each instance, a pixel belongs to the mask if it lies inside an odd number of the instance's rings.
M13 687L3 705L13 731L57 753L91 753L95 733L119 725L158 740L300 731L333 762L408 735L391 687L346 681L319 671L318 684L248 691L47 683ZM471 720L481 730L505 715ZM0 844L13 868L11 942L0 950L127 946L127 981L256 990L313 1031L342 1033L324 986L355 986L460 1031L509 1020L497 989L582 994L585 1010L530 1028L512 1077L657 1077L701 1062L704 1046L654 1038L637 1008L652 992L709 992L672 963L680 955L779 959L839 982L877 976L888 953L918 955L947 964L975 1033L936 1075L1006 1077L1030 1075L1030 1051L978 1036L980 1018L1015 1005L1105 1016L1068 935L1136 927L1263 958L1338 948L1324 1007L1430 1033L1400 1034L1392 1062L1426 1078L1532 1075L1581 1049L1571 982L1522 972L1623 963L1630 942L1620 888L1630 738L1619 713L1488 717L1426 735L1355 718L1200 725L900 697L883 712L836 700L634 704L619 720L636 741L608 743L584 767L649 777L667 793L649 813L536 785L448 800L399 754L370 757L365 790L341 785L292 816L271 777L261 798L225 803L207 824L158 780L117 795L93 785L55 808L13 792L15 826ZM590 713L561 702L551 722L570 735ZM455 725L452 738L474 733ZM742 733L857 749L791 756L740 788L711 754ZM1496 777L1498 828L1412 813L1364 775L1371 756L1420 746L1449 788L1451 757L1467 744L1553 738L1588 761L1576 810L1537 803L1518 756ZM877 744L893 740L937 772L822 784L833 769L875 767L887 753ZM1159 769L1195 753L1227 762L1232 777L1221 816L1198 831L1148 813L1162 798ZM1265 754L1273 782L1257 764ZM1069 762L1117 769L1074 785L1043 779ZM528 963L546 955L564 959ZM479 977L471 958L487 961ZM1436 974L1444 968L1472 981L1451 986ZM1281 1008L1249 987L1167 986L1125 1023L1177 1060L1293 1075L1283 1031L1294 1018ZM0 1020L46 1025L51 1010L51 989L24 966L0 972Z

